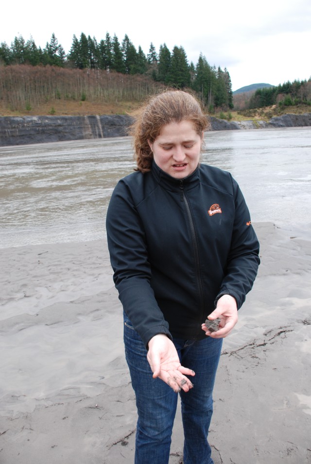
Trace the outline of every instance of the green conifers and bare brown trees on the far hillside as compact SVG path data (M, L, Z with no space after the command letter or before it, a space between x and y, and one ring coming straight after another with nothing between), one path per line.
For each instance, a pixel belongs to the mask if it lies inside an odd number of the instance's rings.
M151 42L147 55L127 34L120 42L116 34L97 41L81 33L73 35L66 54L55 34L44 49L19 35L0 45L0 102L11 110L35 108L46 101L101 100L141 101L159 88L190 89L201 99L208 113L233 109L229 72L211 66L201 53L197 63L189 63L182 46L159 50ZM248 107L271 104L307 103L311 100L311 80L259 89Z

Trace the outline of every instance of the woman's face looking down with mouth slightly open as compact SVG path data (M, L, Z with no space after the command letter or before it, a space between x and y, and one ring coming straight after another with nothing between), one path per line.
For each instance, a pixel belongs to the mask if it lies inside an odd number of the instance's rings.
M199 135L190 121L171 122L163 126L149 146L155 164L176 179L189 176L199 164L203 132Z

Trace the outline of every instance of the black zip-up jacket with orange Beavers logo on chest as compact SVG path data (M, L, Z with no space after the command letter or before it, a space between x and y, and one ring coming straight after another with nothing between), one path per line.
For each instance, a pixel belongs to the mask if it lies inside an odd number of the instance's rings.
M123 309L145 345L157 333L200 340L224 294L238 309L252 288L259 243L237 182L200 165L175 179L153 163L117 184L106 230Z

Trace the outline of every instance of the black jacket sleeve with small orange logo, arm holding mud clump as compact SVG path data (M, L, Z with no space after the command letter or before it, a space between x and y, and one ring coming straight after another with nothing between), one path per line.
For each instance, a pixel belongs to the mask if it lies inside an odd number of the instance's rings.
M240 187L232 177L231 180L235 217L225 277L215 300L215 306L220 297L231 295L236 299L238 309L240 309L257 275L260 264L259 242L251 224L249 211Z

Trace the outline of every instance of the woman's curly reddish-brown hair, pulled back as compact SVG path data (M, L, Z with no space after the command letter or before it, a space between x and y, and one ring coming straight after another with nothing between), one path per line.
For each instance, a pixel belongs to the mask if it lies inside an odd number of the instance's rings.
M137 162L135 170L142 173L150 171L153 160L148 140L153 143L163 126L187 120L193 124L199 135L210 128L199 100L183 90L169 89L154 95L131 116L134 117L134 122L128 133L133 137L134 158Z

